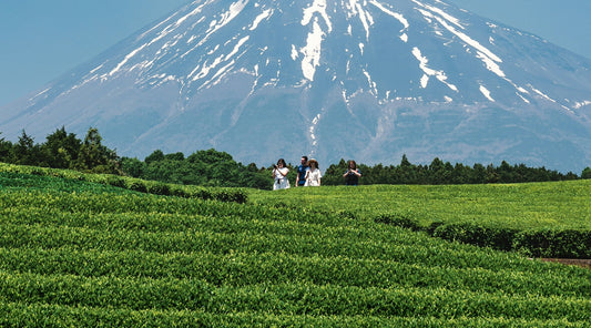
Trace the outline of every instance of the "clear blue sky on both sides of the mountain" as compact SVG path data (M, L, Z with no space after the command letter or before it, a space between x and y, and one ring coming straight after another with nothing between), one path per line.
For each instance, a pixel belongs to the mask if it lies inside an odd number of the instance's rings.
M384 0L385 1L385 0ZM445 0L591 59L589 0ZM188 0L2 0L0 105L43 88Z

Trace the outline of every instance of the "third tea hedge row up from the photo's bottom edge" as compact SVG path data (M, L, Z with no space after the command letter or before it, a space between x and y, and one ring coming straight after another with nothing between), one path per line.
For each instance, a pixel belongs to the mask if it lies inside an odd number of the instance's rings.
M442 256L442 255L440 255ZM591 281L573 273L570 279L552 270L534 276L482 268L425 266L396 260L299 256L275 253L169 253L140 250L78 250L13 248L0 252L0 270L12 274L191 279L214 286L313 284L359 288L430 288L445 286L460 293L584 298ZM386 278L387 277L387 278Z

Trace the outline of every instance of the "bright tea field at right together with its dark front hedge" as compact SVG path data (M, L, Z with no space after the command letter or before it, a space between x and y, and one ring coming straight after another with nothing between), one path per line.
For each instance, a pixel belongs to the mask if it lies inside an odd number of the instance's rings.
M528 256L591 258L591 181L253 191L249 198L255 204L339 213Z

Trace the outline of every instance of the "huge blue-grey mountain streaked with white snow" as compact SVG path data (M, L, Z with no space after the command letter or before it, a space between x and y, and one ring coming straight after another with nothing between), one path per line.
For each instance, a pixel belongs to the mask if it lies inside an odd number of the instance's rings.
M591 165L591 60L439 0L197 0L31 96L2 136L120 155Z

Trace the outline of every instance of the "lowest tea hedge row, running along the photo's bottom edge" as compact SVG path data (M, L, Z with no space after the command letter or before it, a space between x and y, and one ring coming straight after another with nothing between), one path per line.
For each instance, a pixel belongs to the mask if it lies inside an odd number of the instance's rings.
M315 316L258 312L210 314L191 310L132 310L45 304L0 304L1 327L407 327L557 328L589 327L588 321L514 318Z

